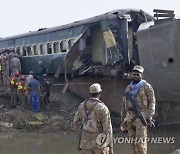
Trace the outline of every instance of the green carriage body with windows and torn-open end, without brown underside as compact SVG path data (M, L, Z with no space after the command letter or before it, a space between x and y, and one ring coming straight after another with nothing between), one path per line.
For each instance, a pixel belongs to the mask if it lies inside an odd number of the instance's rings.
M141 23L152 19L141 10L112 11L68 25L2 38L0 49L15 50L22 56L22 73L38 73L41 60L49 73L55 73L66 61L68 73L83 74L83 67L99 65L102 70L95 69L97 72L114 75L110 67L118 62L130 64L134 33Z

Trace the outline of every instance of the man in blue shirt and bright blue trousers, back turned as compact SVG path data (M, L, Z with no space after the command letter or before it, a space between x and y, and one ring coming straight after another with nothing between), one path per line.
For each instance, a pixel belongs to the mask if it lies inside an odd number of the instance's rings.
M32 110L33 112L38 112L40 103L40 82L37 80L35 74L33 75L33 80L28 84L28 89L31 90Z

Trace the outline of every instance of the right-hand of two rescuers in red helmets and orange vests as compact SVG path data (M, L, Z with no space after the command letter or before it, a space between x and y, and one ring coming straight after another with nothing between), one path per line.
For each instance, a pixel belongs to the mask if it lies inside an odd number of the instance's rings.
M20 77L20 82L18 83L18 96L19 96L19 105L24 108L25 99L26 99L26 83L25 76Z

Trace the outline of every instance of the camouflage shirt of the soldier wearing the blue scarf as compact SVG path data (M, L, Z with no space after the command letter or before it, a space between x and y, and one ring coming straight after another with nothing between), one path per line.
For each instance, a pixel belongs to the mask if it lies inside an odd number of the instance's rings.
M130 91L131 86L128 85L125 92ZM145 82L135 95L138 105L142 111L142 114L146 119L152 119L155 113L155 94L152 86ZM136 115L132 110L132 103L124 98L124 104L121 109L121 121L131 121Z

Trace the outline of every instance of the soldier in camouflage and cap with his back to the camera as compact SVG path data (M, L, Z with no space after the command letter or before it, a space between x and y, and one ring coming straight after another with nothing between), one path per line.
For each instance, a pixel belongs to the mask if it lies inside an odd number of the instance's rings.
M91 97L79 105L73 121L74 129L80 132L80 154L113 154L110 112L99 99L101 85L92 84L89 90Z

